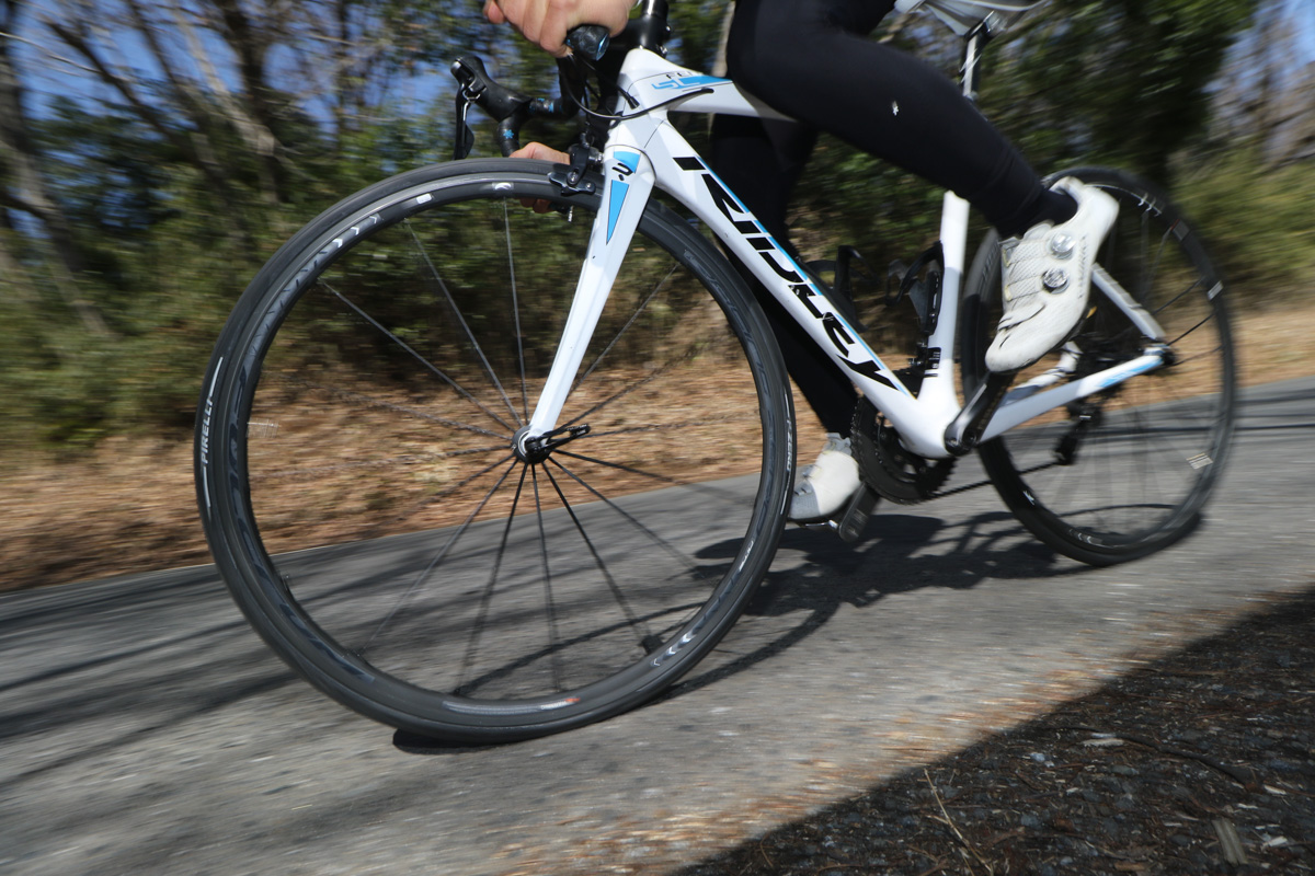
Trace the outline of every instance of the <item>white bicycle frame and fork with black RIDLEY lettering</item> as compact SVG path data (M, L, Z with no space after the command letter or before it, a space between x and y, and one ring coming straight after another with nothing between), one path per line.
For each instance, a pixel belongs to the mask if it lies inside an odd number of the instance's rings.
M945 429L960 412L955 390L955 338L959 299L968 247L968 202L947 193L940 223L944 255L942 309L928 348L940 351L939 362L926 369L917 395L882 362L859 332L809 278L785 248L764 230L668 120L671 112L723 113L784 118L727 79L679 67L655 53L633 49L618 77L635 104L618 101L626 118L611 129L604 150L602 209L590 232L588 255L563 330L547 383L539 395L522 441L554 431L571 385L580 369L644 205L656 185L707 225L781 302L822 349L848 374L881 411L901 443L927 458L945 458ZM1107 389L1164 364L1162 330L1103 269L1097 267L1093 286L1106 294L1136 324L1147 344L1143 355L1106 370L1059 386L1072 373L1076 357L1061 355L1047 374L1013 389L982 433L989 440L1045 411ZM1053 389L1047 389L1055 386Z

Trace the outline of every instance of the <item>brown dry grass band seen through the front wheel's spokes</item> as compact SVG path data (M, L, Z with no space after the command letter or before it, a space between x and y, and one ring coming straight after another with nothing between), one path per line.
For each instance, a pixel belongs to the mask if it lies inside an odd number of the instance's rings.
M669 485L652 474L697 482L756 470L760 431L747 372L704 361L656 374L610 377L590 381L572 395L571 410L593 410L584 418L592 431L563 449L623 468L556 457L568 468L586 469L594 489L615 498ZM342 378L329 382L335 387L346 383ZM622 387L631 391L608 403ZM529 398L537 398L538 391L531 386ZM455 394L414 399L397 390L364 386L355 394L376 405L330 405L325 391L302 383L275 394L252 412L254 423L268 424L274 432L252 436L250 456L252 503L270 549L300 550L458 525L471 514L471 500L484 498L497 474L508 470L506 439L425 419L492 423L487 416L462 416L459 412L471 406ZM489 399L488 407L509 418L496 401ZM398 416L397 408L410 415ZM568 418L569 412L564 422ZM655 465L658 460L660 465ZM472 473L485 469L488 474L466 483ZM572 503L593 498L560 470L555 469L555 478ZM497 491L473 519L505 517L513 511L515 493ZM552 485L540 479L538 507L548 511L560 504ZM515 510L525 512L527 506Z

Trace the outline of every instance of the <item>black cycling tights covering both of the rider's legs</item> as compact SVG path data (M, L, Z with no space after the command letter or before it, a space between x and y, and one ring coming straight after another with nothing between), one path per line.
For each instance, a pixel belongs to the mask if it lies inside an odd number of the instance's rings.
M717 172L768 231L785 240L790 189L828 131L951 189L1001 234L1074 210L938 70L867 38L894 0L738 0L726 60L731 77L797 122L718 117ZM764 290L790 376L828 432L849 433L853 387Z

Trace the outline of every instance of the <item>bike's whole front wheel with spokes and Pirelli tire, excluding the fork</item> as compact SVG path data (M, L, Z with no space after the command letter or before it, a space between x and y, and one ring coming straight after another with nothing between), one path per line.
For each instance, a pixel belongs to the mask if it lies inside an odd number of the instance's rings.
M242 296L197 414L206 536L255 629L345 705L447 742L669 687L765 574L793 477L772 332L658 204L560 419L588 435L513 454L598 208L550 169L429 167L327 210Z

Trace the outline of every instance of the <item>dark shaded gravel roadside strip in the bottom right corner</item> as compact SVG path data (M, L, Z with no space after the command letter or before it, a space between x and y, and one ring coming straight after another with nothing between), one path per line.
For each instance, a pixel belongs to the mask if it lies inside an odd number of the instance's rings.
M1315 590L680 876L1315 873Z

